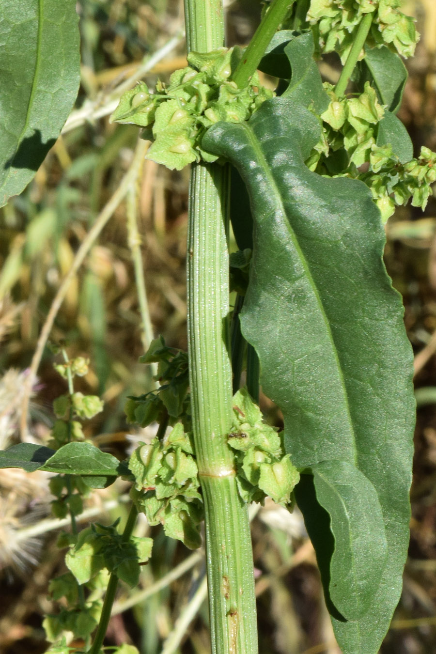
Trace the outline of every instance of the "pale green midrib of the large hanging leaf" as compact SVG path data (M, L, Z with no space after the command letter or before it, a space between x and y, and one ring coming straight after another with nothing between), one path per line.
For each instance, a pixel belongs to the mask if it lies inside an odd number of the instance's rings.
M354 423L352 421L351 417L351 412L350 412L350 404L348 402L348 392L346 390L346 385L344 381L344 376L343 376L343 371L341 368L341 361L339 359L338 353L337 353L337 347L335 344L335 340L333 339L333 334L331 333L331 329L329 326L329 320L326 315L326 311L324 311L324 305L322 304L322 300L320 298L320 294L318 293L318 289L316 288L316 284L314 283L314 279L312 277L312 273L310 271L309 264L307 262L307 259L305 255L303 254L303 251L301 250L301 247L299 245L297 236L295 235L295 232L292 229L292 226L290 224L290 220L288 220L288 214L286 213L286 209L284 207L284 203L282 201L282 196L280 194L280 190L278 189L278 186L275 182L275 179L273 175L271 174L271 170L269 168L269 165L267 163L267 160L265 159L265 156L263 155L263 151L260 146L260 141L256 137L254 133L254 129L248 124L248 123L243 123L241 124L241 127L244 129L246 132L246 136L248 138L248 141L250 142L250 145L252 146L254 153L256 154L256 162L258 165L260 165L261 169L263 170L263 173L265 175L265 178L267 179L268 186L271 189L271 192L273 194L273 197L275 198L275 201L280 209L280 212L282 213L282 216L286 219L286 228L288 229L288 232L290 233L290 237L292 239L292 243L295 247L295 250L297 250L297 254L303 264L303 269L305 270L305 273L307 275L307 279L309 279L309 284L310 288L312 288L312 292L314 293L314 296L316 298L316 303L318 304L318 308L320 310L320 313L322 315L322 320L324 322L324 327L326 328L327 332L327 337L329 339L329 342L331 344L331 349L333 351L333 356L335 358L336 362L336 367L337 367L337 372L339 375L339 381L341 384L341 388L343 390L343 396L344 396L344 403L346 407L346 415L348 417L348 422L351 427L351 432L353 436L353 452L354 452L354 464L356 465L356 468L358 467L358 453L357 453L357 448L356 448L356 432L354 430ZM303 164L305 165L305 164ZM312 173L315 174L315 173ZM255 219L256 220L256 219Z

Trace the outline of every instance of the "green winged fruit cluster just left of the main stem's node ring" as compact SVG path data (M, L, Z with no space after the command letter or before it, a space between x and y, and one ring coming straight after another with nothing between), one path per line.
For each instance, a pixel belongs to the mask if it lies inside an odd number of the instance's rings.
M159 441L140 443L129 460L135 477L131 498L150 525L163 525L170 538L195 549L201 545L204 518L197 462L181 422Z

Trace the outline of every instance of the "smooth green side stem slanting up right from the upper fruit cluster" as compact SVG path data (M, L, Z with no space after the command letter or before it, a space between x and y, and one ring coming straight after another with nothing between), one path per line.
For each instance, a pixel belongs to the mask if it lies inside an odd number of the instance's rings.
M278 26L288 13L293 0L273 0L254 37L244 52L244 56L232 75L232 80L239 88L247 86L250 77L256 71L269 42Z

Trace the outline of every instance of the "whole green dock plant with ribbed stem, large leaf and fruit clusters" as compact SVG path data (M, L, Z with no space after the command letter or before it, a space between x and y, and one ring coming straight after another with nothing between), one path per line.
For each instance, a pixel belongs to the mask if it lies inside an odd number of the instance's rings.
M69 510L73 525L85 488L117 476L132 483L122 535L94 525L69 541L79 584L69 601L88 616L81 628L91 654L103 646L118 578L134 585L150 556L151 543L131 537L137 511L190 548L205 521L212 651L256 653L248 503L266 496L303 512L341 650L380 647L401 592L414 426L411 347L382 260L383 222L410 199L424 208L436 181L436 154L422 148L414 158L395 115L407 78L399 56L411 56L417 40L400 5L273 0L241 50L224 48L220 0L185 0L188 67L156 90L139 82L112 114L143 128L147 158L192 164L188 354L161 338L144 354L158 366L158 387L129 398L127 419L159 428L128 462L77 442L74 418L98 411L99 400L73 391L86 362L66 355L56 451L22 443L0 459L65 475L52 482L54 509ZM316 64L330 52L343 65L335 85ZM275 92L257 71L278 79ZM16 133L8 162L24 143ZM10 165L5 199L17 191ZM239 247L230 257L229 221ZM260 384L282 411L282 432L262 420ZM82 586L93 596L105 570L97 610ZM65 594L62 581L53 591ZM73 617L62 619L77 630ZM58 627L50 626L53 640ZM63 640L52 651L67 649Z

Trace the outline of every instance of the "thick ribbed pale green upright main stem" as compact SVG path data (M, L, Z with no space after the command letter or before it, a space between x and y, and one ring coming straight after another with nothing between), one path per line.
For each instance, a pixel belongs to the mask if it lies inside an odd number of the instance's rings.
M188 49L224 43L220 0L185 0ZM205 502L212 654L256 654L250 524L227 445L232 419L229 344L229 167L192 166L188 207L188 353L192 428Z

